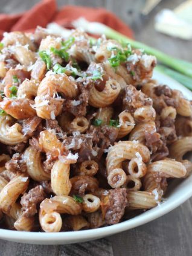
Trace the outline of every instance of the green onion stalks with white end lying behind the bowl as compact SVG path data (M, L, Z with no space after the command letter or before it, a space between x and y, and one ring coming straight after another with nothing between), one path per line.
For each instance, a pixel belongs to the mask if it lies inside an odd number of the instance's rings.
M165 74L170 75L175 80L178 80L178 82L192 90L192 63L174 58L168 54L162 53L162 51L147 46L144 43L130 39L99 22L88 22L86 19L80 18L77 21L74 21L73 25L76 28L82 27L86 32L91 34L105 34L107 38L118 40L123 44L129 43L132 48L143 49L147 54L156 56L158 61L165 65L158 65L156 69L158 69L159 72L164 72ZM173 68L175 71L168 69L166 66Z

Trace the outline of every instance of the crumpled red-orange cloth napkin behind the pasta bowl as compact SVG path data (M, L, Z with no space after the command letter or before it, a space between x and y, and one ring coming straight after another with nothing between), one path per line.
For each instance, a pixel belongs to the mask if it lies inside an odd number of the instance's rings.
M63 27L70 27L74 19L84 17L88 21L97 21L114 28L126 36L133 37L132 30L103 8L89 8L66 5L57 10L56 0L42 0L31 10L21 14L0 14L0 37L7 31L34 31L37 25L46 27L50 22L56 22Z

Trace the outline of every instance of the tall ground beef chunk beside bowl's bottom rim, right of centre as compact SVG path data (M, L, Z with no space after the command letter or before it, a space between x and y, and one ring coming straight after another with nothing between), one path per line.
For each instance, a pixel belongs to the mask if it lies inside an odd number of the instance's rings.
M115 188L114 190L109 190L109 205L105 214L106 223L113 225L120 222L126 205L126 188Z

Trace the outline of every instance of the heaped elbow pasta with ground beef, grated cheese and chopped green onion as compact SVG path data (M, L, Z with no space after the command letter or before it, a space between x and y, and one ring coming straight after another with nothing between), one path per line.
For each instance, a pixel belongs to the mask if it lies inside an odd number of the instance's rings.
M2 228L114 225L191 173L191 102L152 79L154 56L81 30L5 33L0 48Z

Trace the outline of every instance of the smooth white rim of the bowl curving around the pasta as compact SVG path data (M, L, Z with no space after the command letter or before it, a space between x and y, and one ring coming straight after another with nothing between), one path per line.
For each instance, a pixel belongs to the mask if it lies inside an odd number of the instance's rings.
M173 78L168 77L167 75L161 74L158 71L154 72L154 77L158 78L161 77L161 80L165 80L166 83L168 82L168 86L170 88L177 88L180 89L185 97L192 98L192 92L182 86L180 83L173 80ZM155 208L158 211L148 210L145 213L139 214L139 216L133 217L132 219L125 220L124 222L117 223L111 226L105 226L102 228L97 229L87 229L82 231L68 231L68 232L27 232L27 231L13 231L9 229L1 229L0 228L0 238L5 240L13 240L23 243L53 243L53 242L60 242L60 243L75 243L80 241L88 241L93 240L101 237L106 237L108 235L113 235L118 232L123 232L128 229L135 228L136 226L143 225L145 223L151 222L152 220L157 219L158 217L167 214L174 208L178 207L182 203L184 203L187 199L192 196L192 186L191 190L188 190L187 193L181 193L177 197L176 200L173 200L169 203L161 203L164 204L163 207L156 206Z

